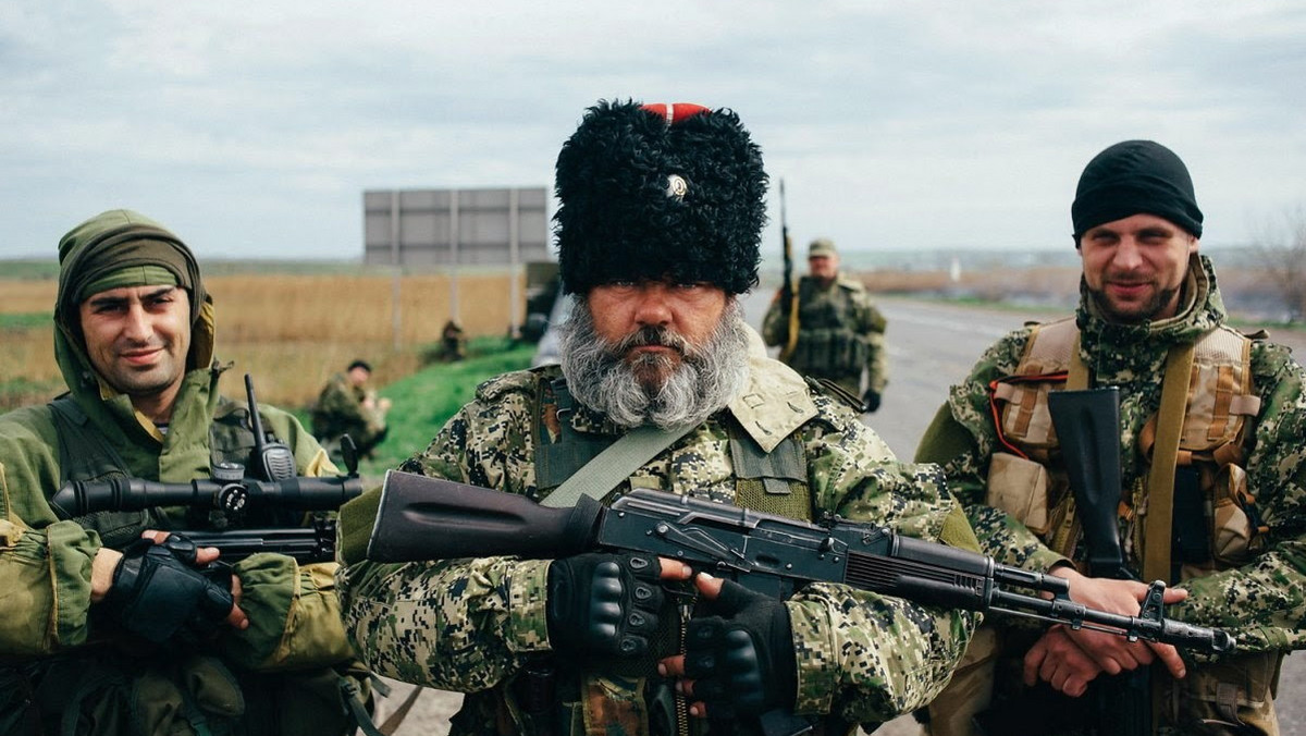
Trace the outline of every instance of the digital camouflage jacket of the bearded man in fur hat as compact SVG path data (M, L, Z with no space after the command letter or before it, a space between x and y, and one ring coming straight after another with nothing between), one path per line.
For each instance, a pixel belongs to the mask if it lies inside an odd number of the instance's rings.
M931 540L948 519L948 528L964 531L959 537L965 544L970 532L936 468L896 461L845 405L812 392L784 365L755 357L751 367L751 384L739 399L614 493L640 486L731 501L735 486L725 422L738 421L767 452L795 433L816 510ZM546 366L483 383L475 400L402 469L542 498L549 489L537 485L534 417L559 375L556 366ZM588 435L619 433L585 407L576 408L571 426ZM549 435L556 438L556 427ZM341 536L370 524L370 518L350 518L346 507ZM453 732L494 733L496 714L515 712L513 678L532 659L551 651L547 567L549 561L513 557L409 565L364 561L342 567L337 578L346 629L371 667L400 680L470 693ZM810 584L786 605L799 663L798 711L835 714L848 723L888 720L929 702L949 677L976 624L973 614L837 584ZM674 608L666 616L674 621ZM639 715L649 710L640 702L641 685L605 678L603 688L610 705L602 720L615 728L609 732L648 733L646 716Z

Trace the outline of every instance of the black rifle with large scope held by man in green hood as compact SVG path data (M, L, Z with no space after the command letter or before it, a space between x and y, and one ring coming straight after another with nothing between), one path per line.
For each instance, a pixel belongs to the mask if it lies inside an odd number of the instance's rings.
M60 519L98 511L140 511L155 506L217 511L227 528L170 531L184 535L200 546L218 548L223 562L244 560L259 552L289 554L302 563L334 560L336 520L320 512L340 509L341 503L363 493L353 441L345 437L342 443L347 475L299 477L295 475L295 458L290 447L269 441L263 430L249 375L246 375L246 396L249 401L249 429L255 438L249 465L261 477L247 476L246 465L223 461L213 467L210 478L188 482L132 477L69 481L55 492L50 506ZM276 512L290 511L319 514L313 514L311 526L306 527L239 528L247 516L265 519Z

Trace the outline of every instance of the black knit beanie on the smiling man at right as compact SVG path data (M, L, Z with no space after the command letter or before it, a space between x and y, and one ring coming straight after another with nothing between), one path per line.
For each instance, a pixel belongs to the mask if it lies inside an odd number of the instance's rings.
M1155 214L1202 237L1202 210L1188 169L1153 141L1123 141L1084 167L1070 208L1075 246L1091 227L1134 214Z

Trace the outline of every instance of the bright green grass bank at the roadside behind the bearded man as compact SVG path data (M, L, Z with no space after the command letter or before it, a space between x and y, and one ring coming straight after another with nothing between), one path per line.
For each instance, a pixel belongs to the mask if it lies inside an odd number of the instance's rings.
M372 450L374 458L359 463L359 472L380 482L385 471L426 450L444 422L471 400L477 386L502 373L522 370L530 365L535 346L513 345L505 339L473 340L468 358L456 363L438 363L401 378L377 393L390 400L389 434ZM296 412L310 426L308 412Z

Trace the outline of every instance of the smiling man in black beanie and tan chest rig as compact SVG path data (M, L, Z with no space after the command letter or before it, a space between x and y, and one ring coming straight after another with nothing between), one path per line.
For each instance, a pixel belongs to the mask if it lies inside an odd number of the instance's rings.
M1102 680L1149 667L1148 732L1279 733L1279 663L1306 642L1306 373L1288 349L1224 324L1215 269L1198 254L1192 180L1168 148L1135 140L1101 152L1071 218L1079 311L993 345L952 387L917 460L943 464L999 562L1050 570L1074 599L1131 616L1145 591L1136 580L1164 579L1178 586L1168 614L1229 631L1237 652L985 626L930 707L930 729L974 733L972 714L987 709L989 733L1110 733L1101 716L1122 703L1104 702ZM1049 391L1107 386L1121 390L1118 527L1135 580L1081 574L1087 549L1049 431ZM1028 689L1038 681L1062 694Z

